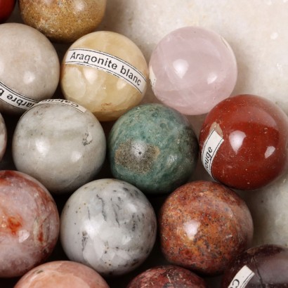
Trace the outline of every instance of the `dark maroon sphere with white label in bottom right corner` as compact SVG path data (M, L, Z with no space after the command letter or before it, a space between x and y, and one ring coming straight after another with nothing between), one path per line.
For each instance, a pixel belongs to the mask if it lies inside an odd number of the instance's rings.
M288 287L287 270L287 247L275 244L252 247L230 263L221 287Z

